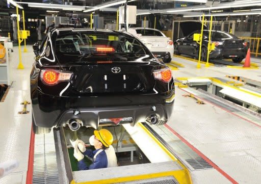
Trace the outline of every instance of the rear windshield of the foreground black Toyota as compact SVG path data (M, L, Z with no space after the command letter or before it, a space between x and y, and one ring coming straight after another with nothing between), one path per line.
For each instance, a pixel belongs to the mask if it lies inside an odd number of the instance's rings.
M150 55L149 50L140 41L129 35L70 33L58 36L55 44L56 53L63 55Z

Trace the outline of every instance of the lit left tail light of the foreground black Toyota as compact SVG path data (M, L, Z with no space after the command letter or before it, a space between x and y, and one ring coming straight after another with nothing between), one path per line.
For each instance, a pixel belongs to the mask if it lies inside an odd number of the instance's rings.
M61 81L70 80L72 73L57 70L42 70L41 80L47 85L55 85Z

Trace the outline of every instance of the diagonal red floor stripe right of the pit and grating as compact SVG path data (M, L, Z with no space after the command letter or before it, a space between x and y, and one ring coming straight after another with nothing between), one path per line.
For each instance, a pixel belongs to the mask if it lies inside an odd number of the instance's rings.
M191 145L186 139L181 137L175 130L173 130L170 126L165 124L165 126L175 135L177 136L182 142L187 144L193 151L195 151L199 156L201 156L208 164L210 164L213 168L215 168L220 174L222 174L224 177L226 177L231 183L238 184L236 180L234 180L231 176L229 176L226 172L224 172L222 169L220 169L215 163L213 163L210 159L208 159L202 152L200 152L197 148L195 148L193 145Z

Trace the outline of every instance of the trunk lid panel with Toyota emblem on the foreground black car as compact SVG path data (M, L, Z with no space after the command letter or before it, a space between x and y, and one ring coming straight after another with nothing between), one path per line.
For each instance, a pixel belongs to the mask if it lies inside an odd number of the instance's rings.
M74 93L150 93L154 86L153 66L128 63L93 63L65 67L73 72Z

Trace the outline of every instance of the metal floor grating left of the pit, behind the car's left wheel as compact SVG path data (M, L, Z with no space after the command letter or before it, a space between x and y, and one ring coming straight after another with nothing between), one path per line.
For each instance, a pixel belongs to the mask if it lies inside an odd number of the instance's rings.
M34 184L58 184L58 168L53 132L35 135Z

